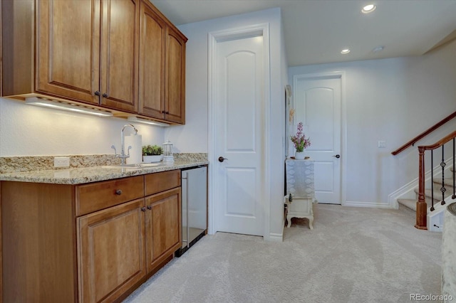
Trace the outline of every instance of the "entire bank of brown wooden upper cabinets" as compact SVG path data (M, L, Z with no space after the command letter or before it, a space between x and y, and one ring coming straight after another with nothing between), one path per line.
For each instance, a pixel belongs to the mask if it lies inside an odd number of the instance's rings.
M1 11L4 96L185 123L187 38L149 1L4 0Z

